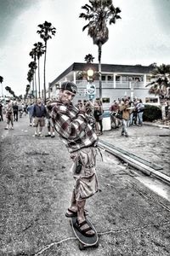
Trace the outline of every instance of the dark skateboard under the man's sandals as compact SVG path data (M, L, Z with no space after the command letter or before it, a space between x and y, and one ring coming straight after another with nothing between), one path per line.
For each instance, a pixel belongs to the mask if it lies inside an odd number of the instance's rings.
M75 227L74 224L77 221L77 216L76 217L71 217L71 228L74 231L75 236L77 237L79 241L79 249L84 250L85 247L99 247L99 237L98 233L94 228L94 225L91 223L90 219L86 217L86 221L88 225L94 230L95 235L94 236L83 236L81 232L79 232Z

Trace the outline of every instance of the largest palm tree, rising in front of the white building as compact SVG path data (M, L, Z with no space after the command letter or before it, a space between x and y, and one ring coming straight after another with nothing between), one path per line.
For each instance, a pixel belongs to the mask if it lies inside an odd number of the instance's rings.
M112 0L89 0L89 4L82 6L87 14L80 14L79 18L88 20L88 24L82 27L82 31L88 28L88 35L93 38L94 44L98 46L99 59L99 98L102 99L101 84L101 52L102 45L109 39L109 29L107 24L116 23L117 19L121 19L118 15L121 10L113 6Z

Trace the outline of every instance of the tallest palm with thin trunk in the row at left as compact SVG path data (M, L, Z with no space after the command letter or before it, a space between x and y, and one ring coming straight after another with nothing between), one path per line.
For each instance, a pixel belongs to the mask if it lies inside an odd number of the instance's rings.
M46 57L47 57L47 43L48 39L52 38L55 35L56 28L48 21L45 21L43 24L38 25L40 30L37 30L37 33L40 34L40 38L43 39L45 43L45 55L44 55L44 68L43 68L43 93L44 93L44 102L46 103L46 81L45 81L45 67L46 67Z

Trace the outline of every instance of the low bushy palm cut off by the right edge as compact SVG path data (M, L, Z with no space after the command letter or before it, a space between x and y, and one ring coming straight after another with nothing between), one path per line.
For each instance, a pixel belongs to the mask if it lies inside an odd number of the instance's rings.
M150 94L155 94L160 97L160 99L166 99L170 96L170 65L162 64L160 67L155 67L151 71L151 79L153 79L150 84Z

